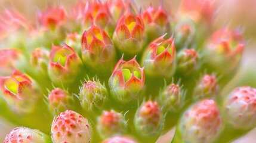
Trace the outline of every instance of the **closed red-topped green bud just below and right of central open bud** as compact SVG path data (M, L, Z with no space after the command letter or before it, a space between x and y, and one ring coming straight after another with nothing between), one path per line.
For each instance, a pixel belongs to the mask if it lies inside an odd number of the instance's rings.
M156 136L162 130L162 114L157 102L147 101L138 108L134 126L141 136Z

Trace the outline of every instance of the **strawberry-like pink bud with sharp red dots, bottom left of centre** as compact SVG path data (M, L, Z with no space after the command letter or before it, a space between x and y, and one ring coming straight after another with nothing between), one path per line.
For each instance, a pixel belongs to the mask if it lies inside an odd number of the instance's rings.
M51 125L53 142L90 142L91 132L88 120L72 110L58 114Z

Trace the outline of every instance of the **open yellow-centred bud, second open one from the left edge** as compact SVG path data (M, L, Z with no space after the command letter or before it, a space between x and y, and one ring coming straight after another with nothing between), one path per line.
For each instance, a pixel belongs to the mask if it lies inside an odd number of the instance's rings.
M76 79L80 65L80 58L66 43L63 46L53 45L48 74L54 83L72 83Z

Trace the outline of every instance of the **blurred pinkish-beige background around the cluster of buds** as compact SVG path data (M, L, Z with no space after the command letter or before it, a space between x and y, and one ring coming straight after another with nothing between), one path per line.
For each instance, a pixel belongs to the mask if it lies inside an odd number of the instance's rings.
M162 0L164 7L169 14L174 14L178 9L178 5L181 0ZM211 0L214 1L214 0ZM232 79L227 85L225 90L230 90L235 86L249 85L256 87L256 1L255 0L216 0L220 2L220 9L216 13L217 19L214 21L214 27L221 27L223 25L229 27L242 27L245 32L247 39L246 49L243 53L242 64L240 70L236 74L235 78ZM63 4L64 7L70 7L76 1L73 0L0 0L0 13L6 8L15 8L16 10L23 13L30 19L36 18L37 11L45 9L48 5L59 5ZM149 4L158 5L159 0L140 0L135 1L138 7L147 8ZM248 79L254 80L255 82L249 82ZM15 125L5 122L0 117L0 142L4 141L5 136L9 133ZM236 143L247 142L253 143L256 141L256 129L251 130L247 135L237 139ZM172 138L173 132L170 131L166 135L162 136L158 142L168 142Z

